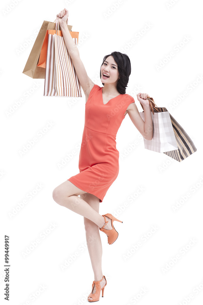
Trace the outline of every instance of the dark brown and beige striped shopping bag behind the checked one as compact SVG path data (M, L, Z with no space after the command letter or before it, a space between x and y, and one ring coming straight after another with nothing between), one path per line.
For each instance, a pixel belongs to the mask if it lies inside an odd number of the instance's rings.
M177 148L174 150L168 150L163 153L165 153L167 156L170 156L174 160L177 160L181 162L182 160L186 159L188 156L190 156L192 153L196 152L197 149L194 146L194 143L192 142L191 138L187 135L187 133L184 131L184 129L178 124L178 122L172 117L172 115L168 112L168 110L165 107L157 107L153 98L147 97L149 100L149 104L151 107L151 113L152 115L156 115L156 113L168 113L170 115L171 124L173 127L173 132L176 139ZM141 103L140 103L141 104ZM142 104L141 104L142 106ZM142 109L143 106L142 106ZM143 116L144 112L141 112L141 117ZM154 124L153 124L154 127ZM153 134L154 137L154 134ZM145 140L145 139L144 139ZM152 138L153 140L153 138ZM151 140L151 141L152 141ZM148 141L148 140L146 140ZM151 142L148 141L148 142ZM152 149L150 149L152 150Z

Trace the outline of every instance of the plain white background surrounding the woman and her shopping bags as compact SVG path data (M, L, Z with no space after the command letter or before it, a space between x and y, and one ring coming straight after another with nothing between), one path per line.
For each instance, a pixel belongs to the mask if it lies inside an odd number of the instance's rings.
M145 149L128 115L122 122L116 139L120 171L100 204L100 214L112 213L123 224L115 223L119 238L113 245L101 233L107 287L100 303L202 304L202 10L198 0L169 3L1 2L0 298L4 299L5 288L4 235L9 235L9 304L81 305L88 302L94 280L83 217L52 198L56 186L79 173L78 149L61 169L58 164L81 144L84 93L77 99L44 97L44 79L22 73L43 21L54 21L64 7L72 30L79 31L78 48L89 77L102 86L98 76L103 56L125 52L132 68L126 93L135 98L139 111L136 94L146 92L159 107L168 109L197 148L178 162ZM174 56L167 60L170 52ZM8 115L20 99L24 102ZM53 126L20 156L23 146L48 122ZM128 152L125 157L124 152ZM38 184L41 189L36 193ZM32 199L27 197L29 192L35 194ZM131 201L130 196L134 196ZM22 204L25 199L27 203ZM174 211L177 202L180 207ZM153 233L152 226L156 227ZM137 250L135 245L140 245ZM23 255L29 248L30 253ZM71 260L75 252L79 255ZM65 260L70 264L62 271ZM145 293L140 294L143 289Z

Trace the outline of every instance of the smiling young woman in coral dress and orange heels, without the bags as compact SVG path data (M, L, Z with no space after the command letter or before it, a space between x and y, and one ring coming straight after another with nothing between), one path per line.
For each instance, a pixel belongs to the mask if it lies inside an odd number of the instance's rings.
M103 87L94 84L88 77L79 57L78 48L67 27L68 10L57 14L58 22L71 56L79 82L86 97L85 126L79 154L79 174L54 188L53 199L61 206L84 217L86 240L94 272L89 302L96 302L102 296L107 284L102 273L102 244L100 231L108 236L108 244L118 237L113 221L119 221L112 214L99 214L99 205L119 172L119 152L116 149L116 134L122 120L128 113L131 121L145 139L153 137L153 124L147 93L138 93L138 101L145 112L145 122L139 115L135 100L125 94L131 74L130 59L126 54L112 52L104 56L100 68ZM80 195L80 197L78 197ZM122 221L120 221L122 222Z

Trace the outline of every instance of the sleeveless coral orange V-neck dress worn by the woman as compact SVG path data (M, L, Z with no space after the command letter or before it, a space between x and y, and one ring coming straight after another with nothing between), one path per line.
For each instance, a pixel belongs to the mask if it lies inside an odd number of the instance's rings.
M119 172L116 135L128 105L135 102L120 94L103 103L102 88L94 85L85 105L85 126L79 154L79 174L67 179L103 201Z

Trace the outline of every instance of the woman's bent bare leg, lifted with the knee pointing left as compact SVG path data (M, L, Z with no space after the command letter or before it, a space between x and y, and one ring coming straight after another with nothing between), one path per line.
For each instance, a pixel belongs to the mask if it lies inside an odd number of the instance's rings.
M84 199L78 197L78 195L82 194L89 193L82 191L67 180L54 188L52 196L56 203L65 206L69 210L72 210L83 217L86 217L96 224L97 227L102 228L105 223L104 217L94 210ZM110 219L107 217L107 221L109 220ZM112 229L111 221L107 223L105 229Z

